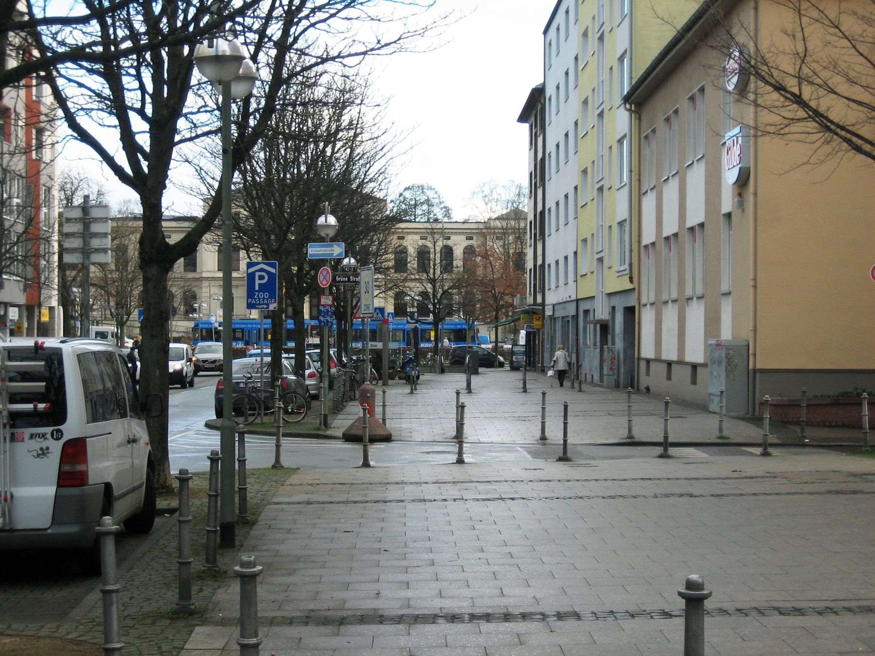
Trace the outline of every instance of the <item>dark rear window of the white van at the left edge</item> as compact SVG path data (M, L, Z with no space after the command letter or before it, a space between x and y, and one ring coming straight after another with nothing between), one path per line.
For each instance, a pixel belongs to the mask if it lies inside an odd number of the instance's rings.
M11 428L26 429L44 426L60 426L66 422L66 385L64 382L64 358L57 348L46 348L34 355L33 347L11 348L7 351L11 362L38 362L45 365L43 371L10 372L10 382L45 383L36 392L9 395L10 405L38 403L49 404L48 412L10 412Z

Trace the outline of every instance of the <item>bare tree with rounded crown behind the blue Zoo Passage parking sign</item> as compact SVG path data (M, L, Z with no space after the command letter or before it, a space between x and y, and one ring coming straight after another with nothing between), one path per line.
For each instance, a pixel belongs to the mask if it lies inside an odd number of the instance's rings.
M381 268L388 228L381 199L388 187L394 137L380 127L368 98L367 80L338 71L314 72L285 87L260 147L241 169L235 194L237 240L250 259L276 261L285 304L272 315L271 330L283 335L286 307L295 324L297 362L304 361L304 301L320 288L324 260L307 259L309 241L321 241L316 218L325 204L339 221L334 239L344 241L360 264ZM340 315L345 295L335 295ZM273 349L279 370L281 353Z

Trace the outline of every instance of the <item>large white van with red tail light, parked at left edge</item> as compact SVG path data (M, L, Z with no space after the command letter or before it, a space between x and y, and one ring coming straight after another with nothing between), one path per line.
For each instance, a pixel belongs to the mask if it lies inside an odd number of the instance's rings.
M95 574L101 517L151 531L144 416L164 409L161 394L140 399L121 350L100 339L0 345L0 551L78 549L82 571Z

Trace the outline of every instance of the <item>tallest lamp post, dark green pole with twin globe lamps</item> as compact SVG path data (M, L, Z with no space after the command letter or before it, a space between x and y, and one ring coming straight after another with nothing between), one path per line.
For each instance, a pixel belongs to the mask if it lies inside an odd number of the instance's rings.
M231 286L231 101L245 98L255 88L255 65L243 53L233 33L207 38L194 48L200 74L221 93L221 218L222 218L222 419L219 536L222 547L235 546L235 425L234 380L231 363L234 331L234 290ZM225 322L228 325L225 325Z

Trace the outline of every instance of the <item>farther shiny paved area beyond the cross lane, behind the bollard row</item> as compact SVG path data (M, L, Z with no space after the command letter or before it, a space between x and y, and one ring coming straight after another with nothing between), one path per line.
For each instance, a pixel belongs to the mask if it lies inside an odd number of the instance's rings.
M547 391L549 441L562 440L563 401L569 403L569 439L574 443L625 441L627 436L627 394L584 384L578 391L570 385L558 387L553 379L528 372L528 392L521 391L521 372L481 369L472 376L472 393L465 392L465 376L423 373L416 394L409 394L403 381L390 380L387 393L387 423L393 439L432 442L455 434L456 389L465 402L465 439L472 442L533 443L541 435L542 390ZM551 387L552 386L552 387ZM381 392L377 387L376 415L381 416ZM335 420L329 435L340 436L355 418L355 404L349 404ZM662 397L633 394L634 435L639 441L662 443ZM673 401L669 411L673 441L725 442L718 440L717 415L702 408ZM724 432L729 442L760 443L761 426L727 417Z

